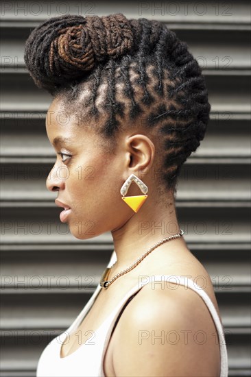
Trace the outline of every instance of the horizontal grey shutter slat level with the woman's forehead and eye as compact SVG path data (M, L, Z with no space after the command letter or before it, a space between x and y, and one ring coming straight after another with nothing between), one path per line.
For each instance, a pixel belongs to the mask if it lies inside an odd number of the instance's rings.
M21 161L25 162L25 159L38 160L39 157L50 158L51 161L56 159L55 151L47 138L44 114L41 114L40 119L34 119L33 114L27 114L26 118L19 114L1 115L1 156L6 158L6 161L17 162L21 158ZM235 120L231 112L211 114L205 137L198 151L192 153L187 162L191 158L250 158L249 132L250 119Z

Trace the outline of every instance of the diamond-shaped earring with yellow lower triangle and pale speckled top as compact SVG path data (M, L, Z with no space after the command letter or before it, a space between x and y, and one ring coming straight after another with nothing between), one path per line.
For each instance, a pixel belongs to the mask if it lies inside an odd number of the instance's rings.
M134 212L138 212L139 208L141 208L148 195L125 196L132 181L134 181L139 186L143 194L146 194L148 192L148 187L134 174L131 174L121 187L120 193L121 195L123 195L121 199L123 199L123 201L128 204L128 206L132 208Z

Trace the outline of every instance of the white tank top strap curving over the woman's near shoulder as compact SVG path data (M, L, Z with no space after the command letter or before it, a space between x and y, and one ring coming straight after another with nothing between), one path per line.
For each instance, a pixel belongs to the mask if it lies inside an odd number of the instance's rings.
M208 307L208 310L210 311L213 320L215 322L215 326L217 328L217 334L219 337L219 348L220 348L220 354L221 354L221 374L220 377L228 377L228 354L226 350L226 341L224 337L224 328L222 326L222 322L219 319L219 315L215 309L215 306L213 305L213 302L211 301L211 298L208 296L208 294L198 285L196 282L191 280L190 278L187 278L187 276L177 276L177 275L153 275L153 276L140 276L140 280L137 284L128 291L128 293L123 297L121 302L115 307L114 311L109 315L107 318L108 321L106 321L107 326L107 332L106 337L104 340L104 349L101 356L101 368L99 370L100 376L104 377L104 369L103 369L103 363L104 363L104 356L106 353L106 348L108 346L110 337L112 335L112 332L115 330L115 327L117 325L117 322L119 321L119 318L121 317L123 310L125 309L125 306L128 305L128 303L133 299L133 297L138 293L146 284L163 284L163 287L167 282L172 282L175 284L181 284L187 287L187 289L192 289L200 297L202 297L202 300L204 300L206 306ZM174 289L174 287L172 287Z

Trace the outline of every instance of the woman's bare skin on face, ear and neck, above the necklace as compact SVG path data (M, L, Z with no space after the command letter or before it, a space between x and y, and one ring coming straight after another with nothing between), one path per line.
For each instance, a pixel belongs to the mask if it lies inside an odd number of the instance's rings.
M47 114L47 136L51 144L57 136L71 138L71 144L62 144L56 151L71 154L72 157L64 156L66 161L62 162L61 156L57 156L56 164L47 178L47 189L53 190L55 187L58 199L71 207L67 222L77 239L92 238L88 234L91 224L93 236L111 232L117 254L116 268L121 270L161 239L179 232L174 198L169 199L169 209L163 202L156 203L156 179L152 176L155 147L151 138L138 132L123 134L115 155L104 155L99 136L76 127L73 117L67 124L63 120L60 122L60 119L63 119L62 108L54 100ZM122 184L132 173L148 187L147 200L136 215L121 200L120 193ZM143 194L133 182L127 195ZM88 228L84 226L86 221L90 221ZM161 221L163 229L157 228ZM82 227L77 225L80 222ZM184 240L177 240L176 243L184 245ZM137 250L134 250L134 245L138 245Z

